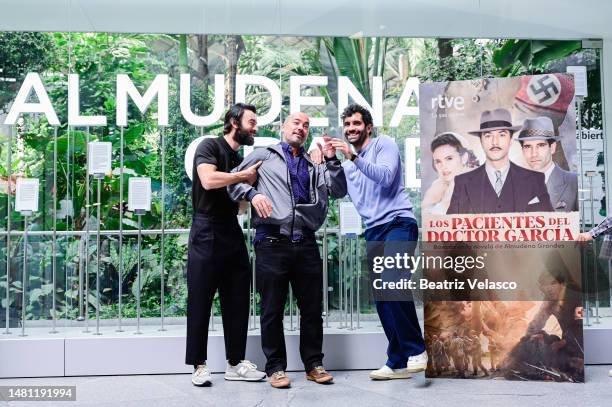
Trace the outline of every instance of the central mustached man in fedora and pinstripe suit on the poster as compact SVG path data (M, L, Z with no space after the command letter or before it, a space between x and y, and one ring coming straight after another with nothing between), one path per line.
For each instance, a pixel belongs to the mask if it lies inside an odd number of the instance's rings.
M553 211L544 174L510 161L512 125L506 109L485 110L480 128L469 132L480 137L486 162L455 177L455 188L447 214Z

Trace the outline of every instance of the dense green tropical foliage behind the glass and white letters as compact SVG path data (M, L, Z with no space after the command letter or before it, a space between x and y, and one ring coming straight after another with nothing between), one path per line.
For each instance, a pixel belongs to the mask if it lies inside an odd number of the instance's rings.
M206 129L197 129L184 121L178 104L178 74L192 74L192 109L198 114L208 112L212 106L213 75L226 75L226 103L234 100L236 74L263 75L279 83L283 103L279 120L288 114L288 78L291 75L325 75L328 86L305 90L306 95L320 95L326 104L312 107L312 116L335 118L338 116L338 76L346 76L371 102L373 77L382 77L384 106L394 106L409 77L421 81L471 79L482 76L518 75L525 72L548 71L568 58L583 58L583 62L596 66L598 56L581 51L576 42L524 41L524 40L471 40L471 39L408 39L408 38L331 38L331 37L263 37L215 35L128 35L88 33L0 33L0 114L6 112L19 83L28 72L43 74L45 85L62 123L66 123L66 84L68 73L80 76L81 112L85 115L104 114L109 123L115 122L115 78L128 73L142 91L157 73L170 75L170 123L160 129L156 125L155 111L140 114L130 106L129 125L123 131L113 125L96 128L71 128L62 125L51 128L44 118L25 116L12 134L11 166L8 163L6 142L8 131L0 134L0 176L6 181L13 176L41 179L41 210L30 219L31 230L49 231L54 227L53 196L57 194L58 232L79 232L97 227L96 182L88 179L85 171L86 143L88 140L109 141L113 145L113 168L110 177L101 184L100 228L102 230L133 231L136 217L120 202L120 188L127 191L127 179L140 175L152 178L153 208L143 216L147 229L162 227L187 229L191 218L191 181L183 168L183 157L189 143L200 134L218 134L221 123ZM560 62L561 61L561 62ZM589 70L589 78L599 77L598 69ZM596 80L591 80L597 83ZM594 86L585 101L590 126L601 126L601 95ZM262 88L250 87L247 100L263 111L269 105L269 95ZM416 99L410 101L416 106ZM388 123L392 109L384 109L384 124L379 134L396 138L403 149L405 137L418 137L418 120L405 117L399 127ZM260 135L276 136L279 122L260 129ZM313 129L317 135L326 131L339 134L335 120L330 128ZM164 154L162 155L162 137ZM123 150L123 159L119 154ZM54 156L57 154L57 189L53 189ZM162 179L162 162L165 177ZM122 165L123 164L123 165ZM121 175L123 174L123 175ZM162 197L162 182L165 195ZM3 184L3 185L5 185ZM89 184L89 188L88 188ZM89 189L89 195L86 191ZM7 208L6 189L0 191L0 229L23 228L17 213ZM419 191L407 191L414 202ZM89 205L88 205L89 202ZM162 206L162 202L163 205ZM121 210L123 212L121 213ZM120 221L122 219L122 222ZM328 226L337 226L337 211L332 205ZM16 318L21 308L21 265L23 237L11 238L10 248L4 241L0 262L9 250L11 311ZM159 235L145 236L142 250L141 287L136 281L136 240L133 234L122 238L122 256L119 256L117 234L102 236L100 257L101 315L118 315L119 291L123 303L122 315L135 315L135 294L140 289L144 316L158 316L161 279L164 278L166 315L185 314L185 263L187 239L185 233L166 234L164 258L161 257ZM29 239L26 259L29 280L26 309L30 318L47 319L51 316L52 296L57 300L58 316L76 318L79 288L89 280L90 293L86 298L89 311L97 304L94 295L95 273L98 270L96 236L87 240L82 234L59 234L57 244L57 281L52 284L52 246L50 236ZM362 251L363 252L363 251ZM329 239L330 285L337 287L338 242L335 235ZM2 270L6 265L0 263ZM362 267L365 270L365 267ZM119 272L121 271L121 275ZM362 309L371 306L371 297L365 275ZM0 281L0 292L6 289L6 280ZM3 285L4 284L4 285ZM3 295L2 307L6 307ZM337 305L338 293L332 292L332 308ZM1 310L0 310L1 311ZM4 312L0 312L0 318Z

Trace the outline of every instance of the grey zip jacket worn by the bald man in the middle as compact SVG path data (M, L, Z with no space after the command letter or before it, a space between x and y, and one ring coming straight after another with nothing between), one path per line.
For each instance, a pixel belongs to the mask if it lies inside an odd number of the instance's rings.
M263 161L257 169L257 182L234 184L227 187L234 201L246 200L249 195L260 193L272 204L272 215L262 219L252 211L255 227L263 224L279 225L286 236L300 233L304 228L318 230L327 215L328 197L342 198L346 195L346 178L340 160L326 161L316 165L304 154L310 174L310 203L296 204L291 189L289 167L279 144L261 147L249 154L232 172L242 171L257 161ZM251 192L253 191L253 192Z

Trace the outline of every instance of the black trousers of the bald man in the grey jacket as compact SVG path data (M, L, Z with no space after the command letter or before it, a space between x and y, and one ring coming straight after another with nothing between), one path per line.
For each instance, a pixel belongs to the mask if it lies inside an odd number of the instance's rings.
M323 364L323 272L314 238L294 243L265 239L255 245L261 294L261 346L266 373L287 369L283 316L289 284L300 310L300 356L304 369Z

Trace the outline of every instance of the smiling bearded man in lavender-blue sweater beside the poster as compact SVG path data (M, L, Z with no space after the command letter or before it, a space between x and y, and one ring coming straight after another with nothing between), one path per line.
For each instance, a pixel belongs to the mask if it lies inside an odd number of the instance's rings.
M404 192L395 141L387 136L372 138L372 115L363 106L348 106L341 118L344 136L357 154L341 139L326 137L325 141L327 148L333 147L347 159L342 166L348 193L365 222L370 268L374 253L413 255L419 229L412 203ZM371 372L370 377L405 379L410 373L424 371L427 353L412 298L397 298L375 290L375 300L389 347L387 363Z

